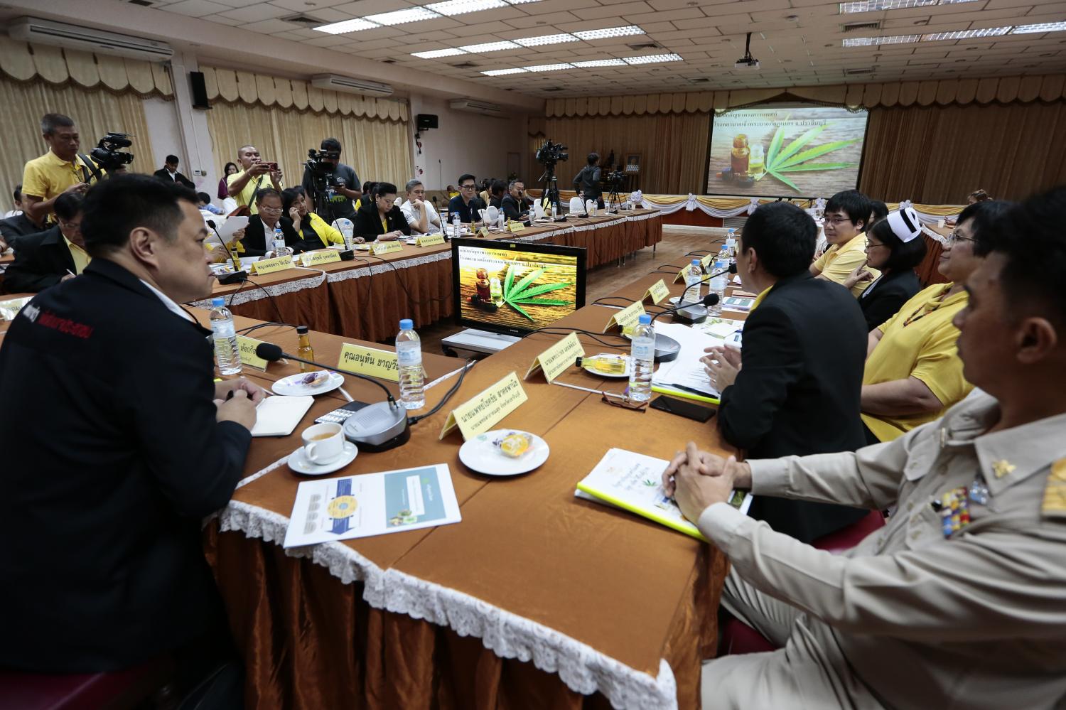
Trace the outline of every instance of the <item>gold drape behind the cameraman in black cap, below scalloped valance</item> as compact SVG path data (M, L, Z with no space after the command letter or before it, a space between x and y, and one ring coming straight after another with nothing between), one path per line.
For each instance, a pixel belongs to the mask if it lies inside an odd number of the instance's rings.
M318 149L322 139L333 136L343 146L341 162L352 165L360 180L402 187L411 176L410 140L404 120L222 101L214 102L207 117L217 175L227 162L237 162L241 146L251 143L263 160L278 163L286 185L297 185L308 148Z

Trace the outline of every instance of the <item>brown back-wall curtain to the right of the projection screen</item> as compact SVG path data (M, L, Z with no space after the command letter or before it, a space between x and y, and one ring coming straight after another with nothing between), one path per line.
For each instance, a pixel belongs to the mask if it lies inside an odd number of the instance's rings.
M1066 183L1066 101L870 111L859 189L959 204L981 188L1021 199Z

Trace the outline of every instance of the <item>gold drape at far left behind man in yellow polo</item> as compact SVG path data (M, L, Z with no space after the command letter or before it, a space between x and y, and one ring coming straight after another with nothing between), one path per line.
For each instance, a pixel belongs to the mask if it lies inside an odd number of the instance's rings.
M11 209L12 192L22 181L26 161L44 155L48 146L41 138L41 117L63 113L75 119L81 134L81 152L88 152L104 133L128 133L134 138L133 173L151 173L154 165L148 123L141 96L126 91L82 88L77 84L50 84L39 79L15 81L0 75L0 106L4 107L4 150L0 151L0 195L3 211Z

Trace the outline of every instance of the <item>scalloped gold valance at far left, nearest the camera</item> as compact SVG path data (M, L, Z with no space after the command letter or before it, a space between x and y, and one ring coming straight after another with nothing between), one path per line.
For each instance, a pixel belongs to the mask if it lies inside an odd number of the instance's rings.
M29 45L4 36L0 36L0 70L17 81L72 82L84 88L133 91L142 96L174 94L169 69L163 64L50 45Z

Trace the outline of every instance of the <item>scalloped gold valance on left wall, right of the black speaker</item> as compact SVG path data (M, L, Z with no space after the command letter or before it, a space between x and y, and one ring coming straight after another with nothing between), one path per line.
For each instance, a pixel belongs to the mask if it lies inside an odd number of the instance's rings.
M311 86L301 79L281 79L251 71L201 66L207 97L229 103L290 107L297 111L339 113L345 116L377 118L381 120L408 120L407 104L393 99L359 96Z

